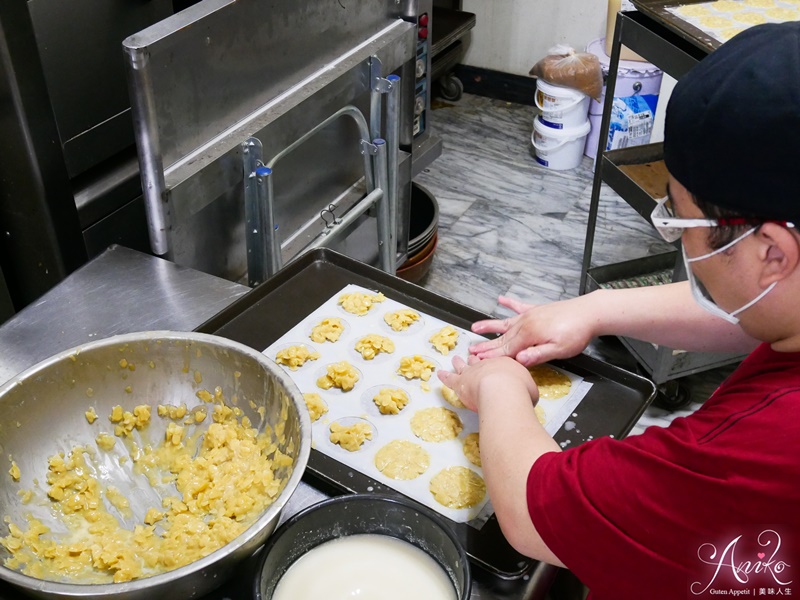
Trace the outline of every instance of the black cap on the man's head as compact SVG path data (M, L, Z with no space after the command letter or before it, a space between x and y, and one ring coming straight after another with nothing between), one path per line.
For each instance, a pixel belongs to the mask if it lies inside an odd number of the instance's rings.
M678 81L664 160L703 202L800 220L800 22L746 29Z

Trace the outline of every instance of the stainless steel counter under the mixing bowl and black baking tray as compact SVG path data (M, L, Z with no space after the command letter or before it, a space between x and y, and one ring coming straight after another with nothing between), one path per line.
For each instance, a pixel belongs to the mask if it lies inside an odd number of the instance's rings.
M0 327L0 384L49 356L120 333L191 331L250 288L121 246L67 277ZM328 496L301 483L283 519ZM513 582L473 572L471 600L544 597L555 567ZM0 584L0 600L16 595ZM241 600L237 598L236 600Z

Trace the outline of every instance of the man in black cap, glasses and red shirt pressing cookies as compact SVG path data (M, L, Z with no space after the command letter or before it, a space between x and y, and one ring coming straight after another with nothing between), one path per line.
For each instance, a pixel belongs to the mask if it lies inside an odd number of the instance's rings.
M568 567L596 600L800 594L798 140L800 23L750 28L667 108L669 199L652 220L680 238L689 281L544 306L501 298L518 316L475 323L502 335L440 373L478 412L510 543ZM752 352L691 416L562 452L525 366L600 335Z

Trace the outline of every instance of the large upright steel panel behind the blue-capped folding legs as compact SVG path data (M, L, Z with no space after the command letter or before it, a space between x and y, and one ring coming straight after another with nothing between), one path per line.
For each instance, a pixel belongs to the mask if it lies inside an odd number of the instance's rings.
M241 280L241 144L259 138L266 164L344 106L369 115L373 56L382 77L413 79L416 29L398 18L409 6L204 0L126 39L153 250ZM412 108L404 96L401 111ZM400 137L410 143L408 115ZM366 193L360 142L355 124L339 119L276 165L285 261L324 229L319 214L331 202L346 210Z

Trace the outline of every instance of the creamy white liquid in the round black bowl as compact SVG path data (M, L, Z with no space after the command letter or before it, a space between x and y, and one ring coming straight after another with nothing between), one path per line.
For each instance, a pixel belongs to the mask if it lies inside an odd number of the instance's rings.
M455 600L453 583L431 556L388 535L351 535L301 556L272 600Z

